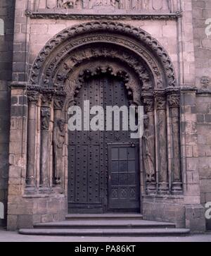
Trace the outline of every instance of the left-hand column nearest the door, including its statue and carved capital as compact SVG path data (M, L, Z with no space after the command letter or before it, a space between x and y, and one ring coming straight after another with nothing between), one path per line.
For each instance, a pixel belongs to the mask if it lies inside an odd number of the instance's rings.
M64 177L63 148L65 145L65 116L63 106L65 92L56 92L53 99L54 126L53 126L53 184L60 186Z

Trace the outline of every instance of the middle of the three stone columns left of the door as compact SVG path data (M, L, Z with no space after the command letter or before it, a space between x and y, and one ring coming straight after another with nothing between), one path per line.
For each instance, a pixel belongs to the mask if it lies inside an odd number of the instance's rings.
M51 121L51 90L45 90L41 97L41 169L40 188L43 193L49 191L49 125Z

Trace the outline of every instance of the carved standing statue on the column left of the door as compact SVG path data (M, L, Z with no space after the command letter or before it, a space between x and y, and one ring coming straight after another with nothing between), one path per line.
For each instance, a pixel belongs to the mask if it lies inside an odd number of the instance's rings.
M56 121L53 130L53 157L55 163L55 184L60 185L63 171L63 145L65 144L65 122L62 119Z

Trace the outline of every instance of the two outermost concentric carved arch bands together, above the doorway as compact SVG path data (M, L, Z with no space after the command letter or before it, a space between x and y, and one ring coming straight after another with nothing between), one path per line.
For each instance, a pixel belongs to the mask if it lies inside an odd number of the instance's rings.
M136 56L145 59L151 70L157 73L155 77L162 78L163 84L158 84L158 87L177 86L170 56L155 38L141 28L109 21L76 25L55 35L35 59L30 74L30 83L41 85L43 77L40 74L44 73L46 66L53 69L63 59L63 54L68 54L70 49L76 49L91 42L107 42L134 51Z

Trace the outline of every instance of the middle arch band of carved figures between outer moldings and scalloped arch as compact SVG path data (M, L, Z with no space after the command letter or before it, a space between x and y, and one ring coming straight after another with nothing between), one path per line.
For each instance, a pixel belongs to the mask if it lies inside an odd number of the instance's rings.
M67 49L68 47L65 47ZM129 53L129 51L123 51L123 49L117 49L115 47L83 47L83 49L78 49L78 51L74 51L72 54L67 52L66 59L64 59L64 51L62 49L57 55L60 56L60 59L63 60L62 63L59 61L55 64L55 61L51 61L49 63L49 67L46 70L46 78L45 80L50 83L50 81L55 77L53 83L56 85L63 85L65 80L70 76L70 73L75 69L79 68L79 64L87 62L87 61L95 61L98 59L111 59L116 60L120 63L127 64L127 66L131 67L134 72L138 75L139 79L143 83L143 87L147 88L147 90L153 90L153 83L151 81L150 71L143 66L143 61L141 59L134 56L134 54ZM151 62L152 63L152 62ZM155 69L155 68L154 68ZM56 75L57 74L57 75ZM158 75L158 79L160 79L160 73L156 73ZM153 74L153 75L156 75ZM51 76L50 76L51 75Z

